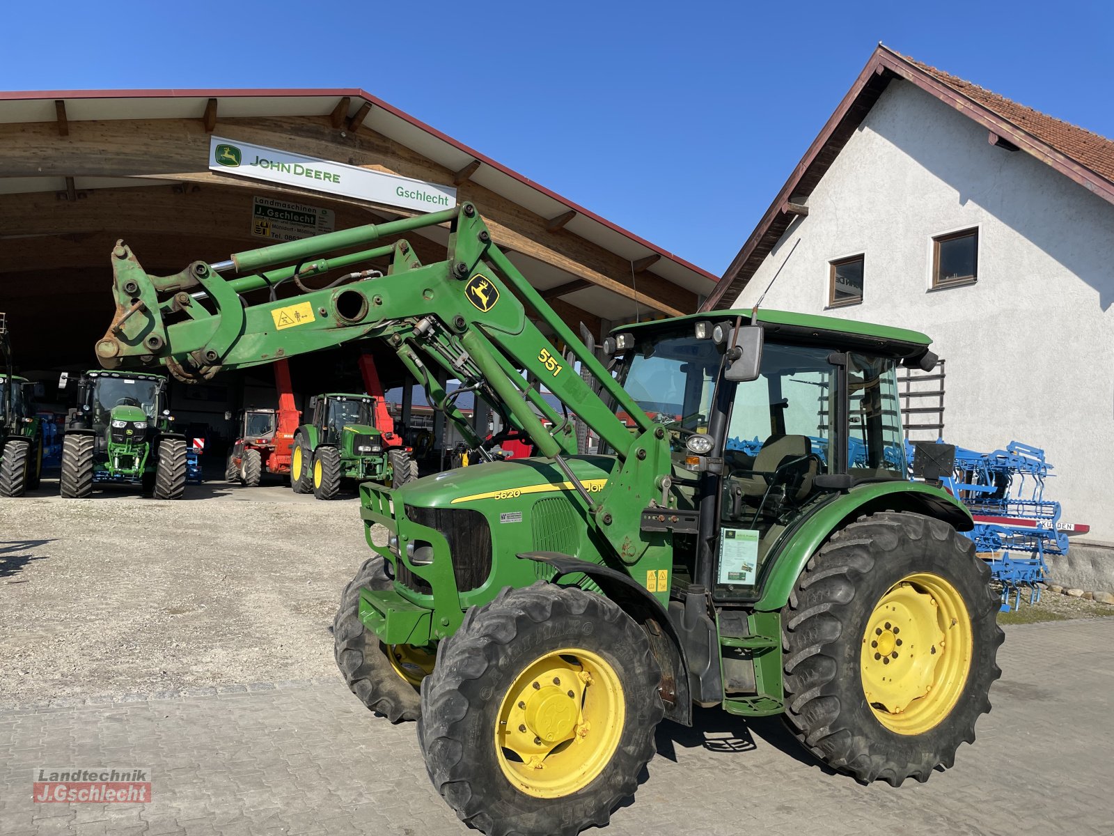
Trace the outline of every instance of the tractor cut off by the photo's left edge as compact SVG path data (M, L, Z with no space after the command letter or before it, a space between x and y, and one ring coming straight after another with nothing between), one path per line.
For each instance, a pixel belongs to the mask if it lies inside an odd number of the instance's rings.
M35 383L14 372L7 317L0 313L0 497L22 496L42 476L42 427Z

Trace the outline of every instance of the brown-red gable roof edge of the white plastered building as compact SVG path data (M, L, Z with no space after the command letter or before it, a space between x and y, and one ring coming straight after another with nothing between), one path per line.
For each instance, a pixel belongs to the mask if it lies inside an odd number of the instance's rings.
M752 263L754 256L756 254L761 254L761 256L764 257L770 251L770 247L781 239L792 221L791 216L786 216L782 212L782 207L785 202L790 198L790 196L798 193L798 186L805 174L811 174L817 179L822 177L823 173L827 172L828 167L831 165L831 161L834 159L836 155L838 155L838 153L842 150L843 145L846 145L846 138L833 142L833 134L836 134L837 129L841 126L841 123L843 123L847 118L851 118L854 120L856 125L858 125L861 124L863 118L866 118L866 115L870 109L869 106L861 113L854 113L853 108L860 103L860 99L866 98L864 93L868 90L868 87L876 77L883 80L888 78L901 78L916 85L944 104L955 108L968 118L974 119L988 130L991 130L998 134L998 136L1013 143L1022 150L1025 150L1043 163L1051 165L1069 179L1075 181L1104 200L1114 203L1114 182L1111 182L1078 161L1068 157L1066 154L1063 154L1047 143L1036 138L1024 128L1018 127L1003 117L1000 114L990 110L955 88L949 87L947 84L934 78L905 56L879 43L871 54L866 67L863 67L862 72L859 74L859 77L851 86L851 89L848 90L847 95L836 108L836 111L824 124L820 134L809 146L809 149L804 153L804 156L801 157L801 162L797 164L797 167L793 169L792 174L790 174L785 185L782 186L781 192L778 193L773 203L770 204L770 208L766 210L762 220L759 221L758 226L754 227L750 237L747 237L743 243L739 254L724 271L723 276L716 283L715 289L711 294L709 294L704 304L701 305L702 311L714 310L720 304L723 297L729 293L741 293L746 286L746 283L750 281L750 275L753 275L754 270L758 269L758 264ZM872 104L873 103L870 103L870 105ZM831 154L827 162L819 161L821 152L824 150L834 150L836 154ZM819 165L819 169L814 168L814 165ZM811 188L808 193L811 193ZM771 237L773 237L772 241L770 241ZM749 270L750 275L740 279L740 274L744 270Z

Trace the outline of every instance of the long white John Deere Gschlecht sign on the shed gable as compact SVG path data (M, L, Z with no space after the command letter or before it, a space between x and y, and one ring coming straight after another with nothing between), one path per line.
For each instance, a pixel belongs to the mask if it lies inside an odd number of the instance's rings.
M457 189L451 186L218 136L209 140L209 169L419 212L436 212L457 205Z

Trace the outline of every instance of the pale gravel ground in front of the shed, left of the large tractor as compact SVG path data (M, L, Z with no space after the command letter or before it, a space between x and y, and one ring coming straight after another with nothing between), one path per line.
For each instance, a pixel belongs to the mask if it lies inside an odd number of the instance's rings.
M0 499L0 703L334 675L340 592L371 555L353 497L57 490Z

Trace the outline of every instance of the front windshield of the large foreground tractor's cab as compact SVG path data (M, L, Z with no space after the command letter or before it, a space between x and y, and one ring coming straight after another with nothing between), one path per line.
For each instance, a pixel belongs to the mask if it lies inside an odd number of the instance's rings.
M638 343L619 372L623 388L658 424L674 430L671 446L680 449L681 430L707 429L723 354L711 340L692 336ZM629 416L618 417L634 426Z

